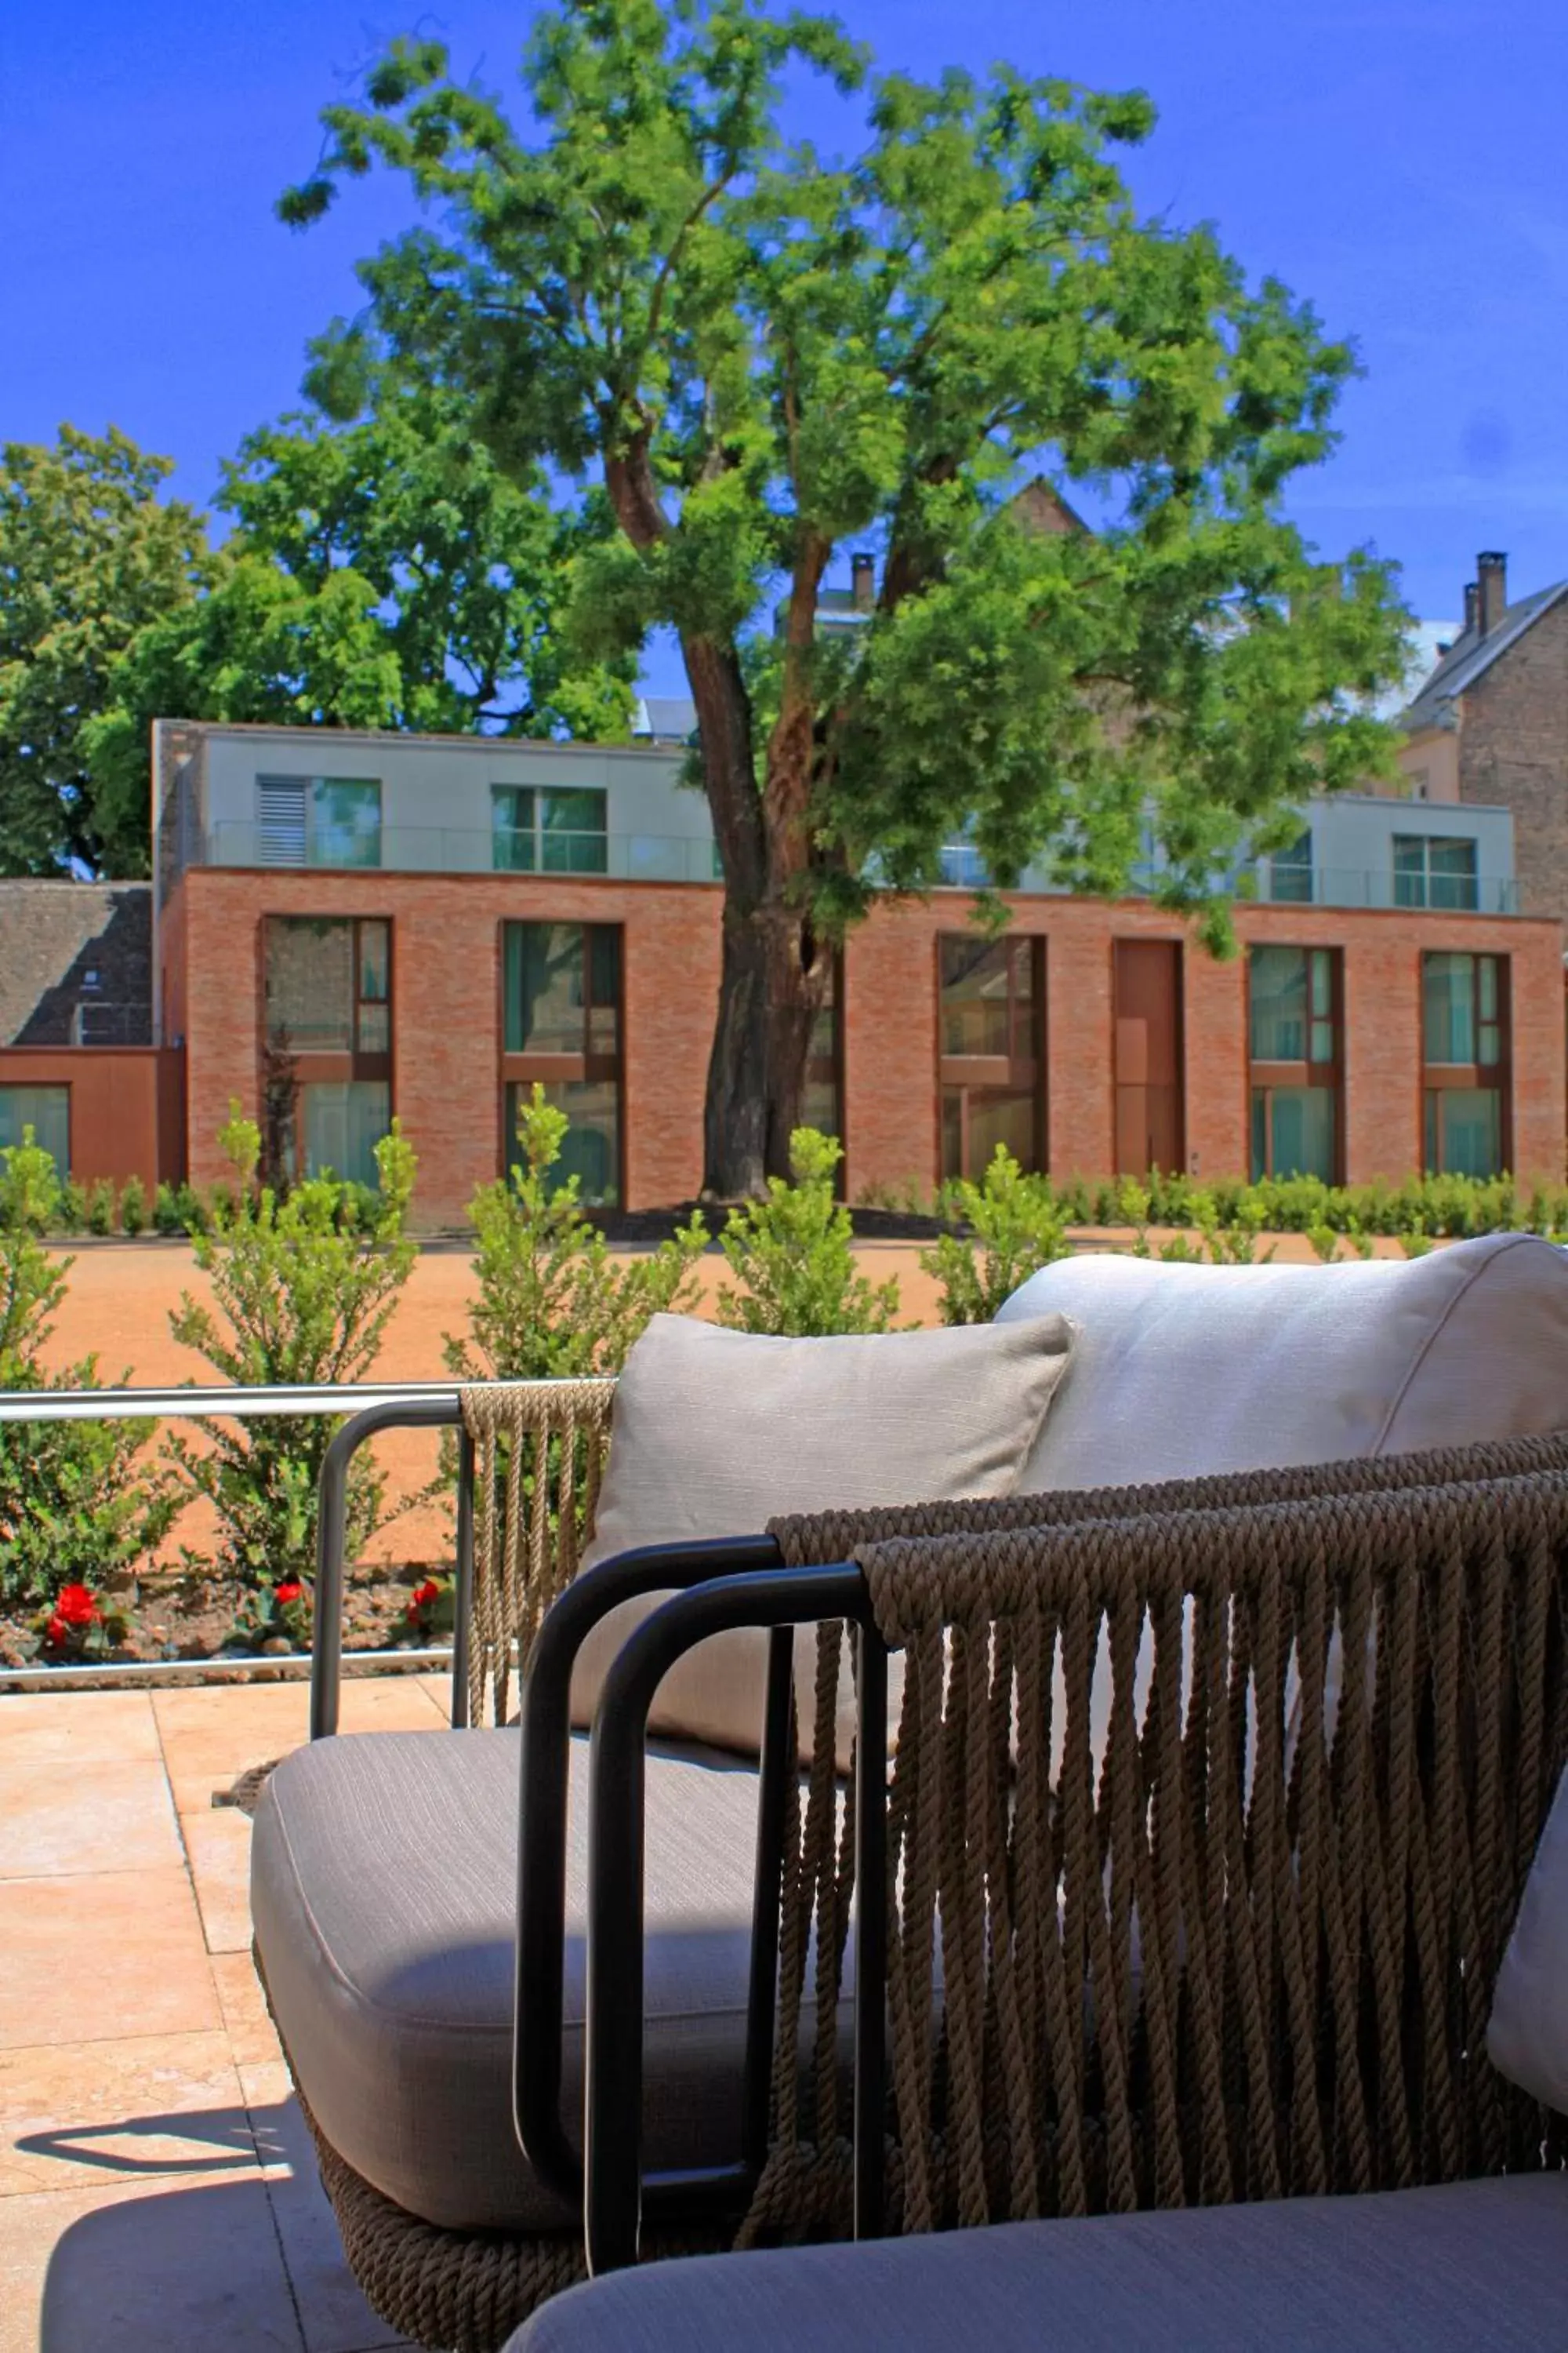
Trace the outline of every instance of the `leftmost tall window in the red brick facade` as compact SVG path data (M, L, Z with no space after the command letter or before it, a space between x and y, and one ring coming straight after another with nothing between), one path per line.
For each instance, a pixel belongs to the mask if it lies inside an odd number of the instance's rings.
M263 934L263 1125L273 1174L376 1184L393 1125L393 927L273 915Z

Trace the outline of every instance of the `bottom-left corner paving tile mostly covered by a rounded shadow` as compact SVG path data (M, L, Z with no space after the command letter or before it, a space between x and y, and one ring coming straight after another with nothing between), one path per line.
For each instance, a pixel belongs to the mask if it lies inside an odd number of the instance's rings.
M7 2198L0 2353L303 2353L266 2181Z

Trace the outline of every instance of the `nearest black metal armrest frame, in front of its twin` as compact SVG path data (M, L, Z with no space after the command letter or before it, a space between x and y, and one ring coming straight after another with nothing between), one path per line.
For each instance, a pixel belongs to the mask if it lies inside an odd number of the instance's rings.
M654 1694L686 1649L733 1626L773 1628L769 1645L769 1765L785 1793L795 1769L790 1722L790 1628L849 1619L856 1628L856 2238L882 2228L886 2113L886 1649L877 1635L865 1579L856 1567L771 1569L710 1577L677 1593L618 1652L592 1720L588 1814L588 2097L585 2097L585 2235L588 2268L637 2261L642 2209L689 2214L696 2200L733 2200L755 2181L764 2148L738 2167L703 2174L642 2177L642 1873L646 1729ZM773 1661L783 1657L783 1722L773 1722ZM764 1793L766 1812L766 1793ZM766 2068L773 2040L778 1967L780 1852L764 1871L759 1833L752 1986L748 2005L748 2122L759 2092L766 2141ZM776 1849L783 1847L783 1807ZM764 1922L764 1882L771 1920ZM759 2061L759 2068L757 2068ZM750 2132L748 2132L750 2139Z

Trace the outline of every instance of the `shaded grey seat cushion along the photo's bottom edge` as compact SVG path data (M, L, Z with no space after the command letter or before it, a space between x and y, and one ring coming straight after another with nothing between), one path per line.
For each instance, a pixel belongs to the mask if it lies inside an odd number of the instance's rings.
M1540 2353L1568 2179L1020 2221L719 2254L574 2287L505 2353Z

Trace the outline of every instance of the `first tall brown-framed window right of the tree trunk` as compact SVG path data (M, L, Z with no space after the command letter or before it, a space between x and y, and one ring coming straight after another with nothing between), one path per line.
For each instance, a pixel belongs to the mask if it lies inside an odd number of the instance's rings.
M938 939L940 1172L1044 1169L1044 939Z

